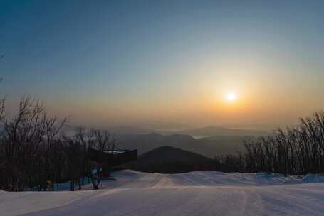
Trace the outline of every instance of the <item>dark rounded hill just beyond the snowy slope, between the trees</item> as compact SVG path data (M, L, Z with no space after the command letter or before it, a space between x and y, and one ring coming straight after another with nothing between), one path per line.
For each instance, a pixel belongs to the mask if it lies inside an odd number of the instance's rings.
M137 161L126 163L120 168L150 173L184 173L216 170L220 168L220 163L180 148L162 146L142 154Z

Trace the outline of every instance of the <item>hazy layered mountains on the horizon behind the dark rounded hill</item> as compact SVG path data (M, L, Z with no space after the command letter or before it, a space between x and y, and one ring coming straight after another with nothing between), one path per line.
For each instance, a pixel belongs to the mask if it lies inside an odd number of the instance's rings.
M67 131L73 134L73 127ZM117 148L137 149L147 153L161 146L172 146L208 158L244 151L244 141L256 136L268 136L267 131L229 129L222 126L204 126L179 131L154 131L135 126L113 126L108 130L117 139Z

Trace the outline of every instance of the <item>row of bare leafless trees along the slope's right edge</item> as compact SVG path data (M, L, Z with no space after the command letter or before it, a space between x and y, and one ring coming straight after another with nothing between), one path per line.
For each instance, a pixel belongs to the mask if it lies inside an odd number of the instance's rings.
M285 175L324 172L324 112L300 119L273 136L246 141L244 153L219 157L224 171L274 172Z

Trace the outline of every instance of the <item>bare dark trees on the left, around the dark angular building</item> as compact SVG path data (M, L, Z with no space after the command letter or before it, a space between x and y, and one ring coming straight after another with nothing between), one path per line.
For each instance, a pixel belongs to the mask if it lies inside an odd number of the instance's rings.
M97 189L105 170L89 158L89 151L110 151L115 146L108 131L79 129L75 136L59 135L66 119L49 118L43 104L25 97L13 118L4 115L0 102L0 189L54 190L55 183L70 181L70 189L85 177ZM107 168L106 168L107 169Z

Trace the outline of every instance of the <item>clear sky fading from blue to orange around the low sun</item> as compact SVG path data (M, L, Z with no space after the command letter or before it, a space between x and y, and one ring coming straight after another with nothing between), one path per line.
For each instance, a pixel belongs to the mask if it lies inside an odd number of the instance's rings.
M274 129L323 110L323 34L324 1L0 0L0 93L78 125Z

